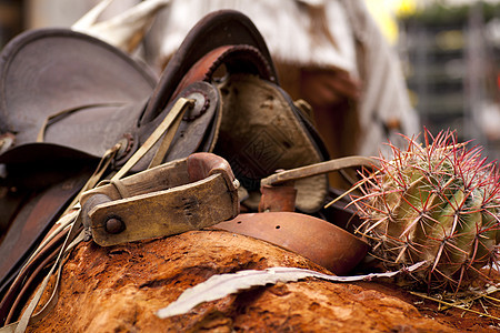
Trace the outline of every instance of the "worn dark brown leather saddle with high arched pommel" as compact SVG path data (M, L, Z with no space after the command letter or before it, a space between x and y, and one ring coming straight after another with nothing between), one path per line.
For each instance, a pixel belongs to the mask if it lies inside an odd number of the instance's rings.
M202 19L159 80L121 51L66 29L17 37L1 53L0 73L0 296L101 157L119 143L107 173L119 169L180 98L194 105L161 162L216 152L251 192L277 169L328 159L307 114L279 88L263 38L236 11ZM158 149L132 172L147 169ZM327 178L301 182L298 208L313 212Z

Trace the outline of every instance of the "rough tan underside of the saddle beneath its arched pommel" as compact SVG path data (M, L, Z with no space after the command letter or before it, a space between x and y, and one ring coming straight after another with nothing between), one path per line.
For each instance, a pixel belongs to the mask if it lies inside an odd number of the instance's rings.
M328 154L313 140L306 118L286 92L251 74L233 74L219 84L222 122L214 152L231 164L241 184L260 190L260 180L280 169L322 162ZM318 211L328 191L326 175L296 182L296 206Z

